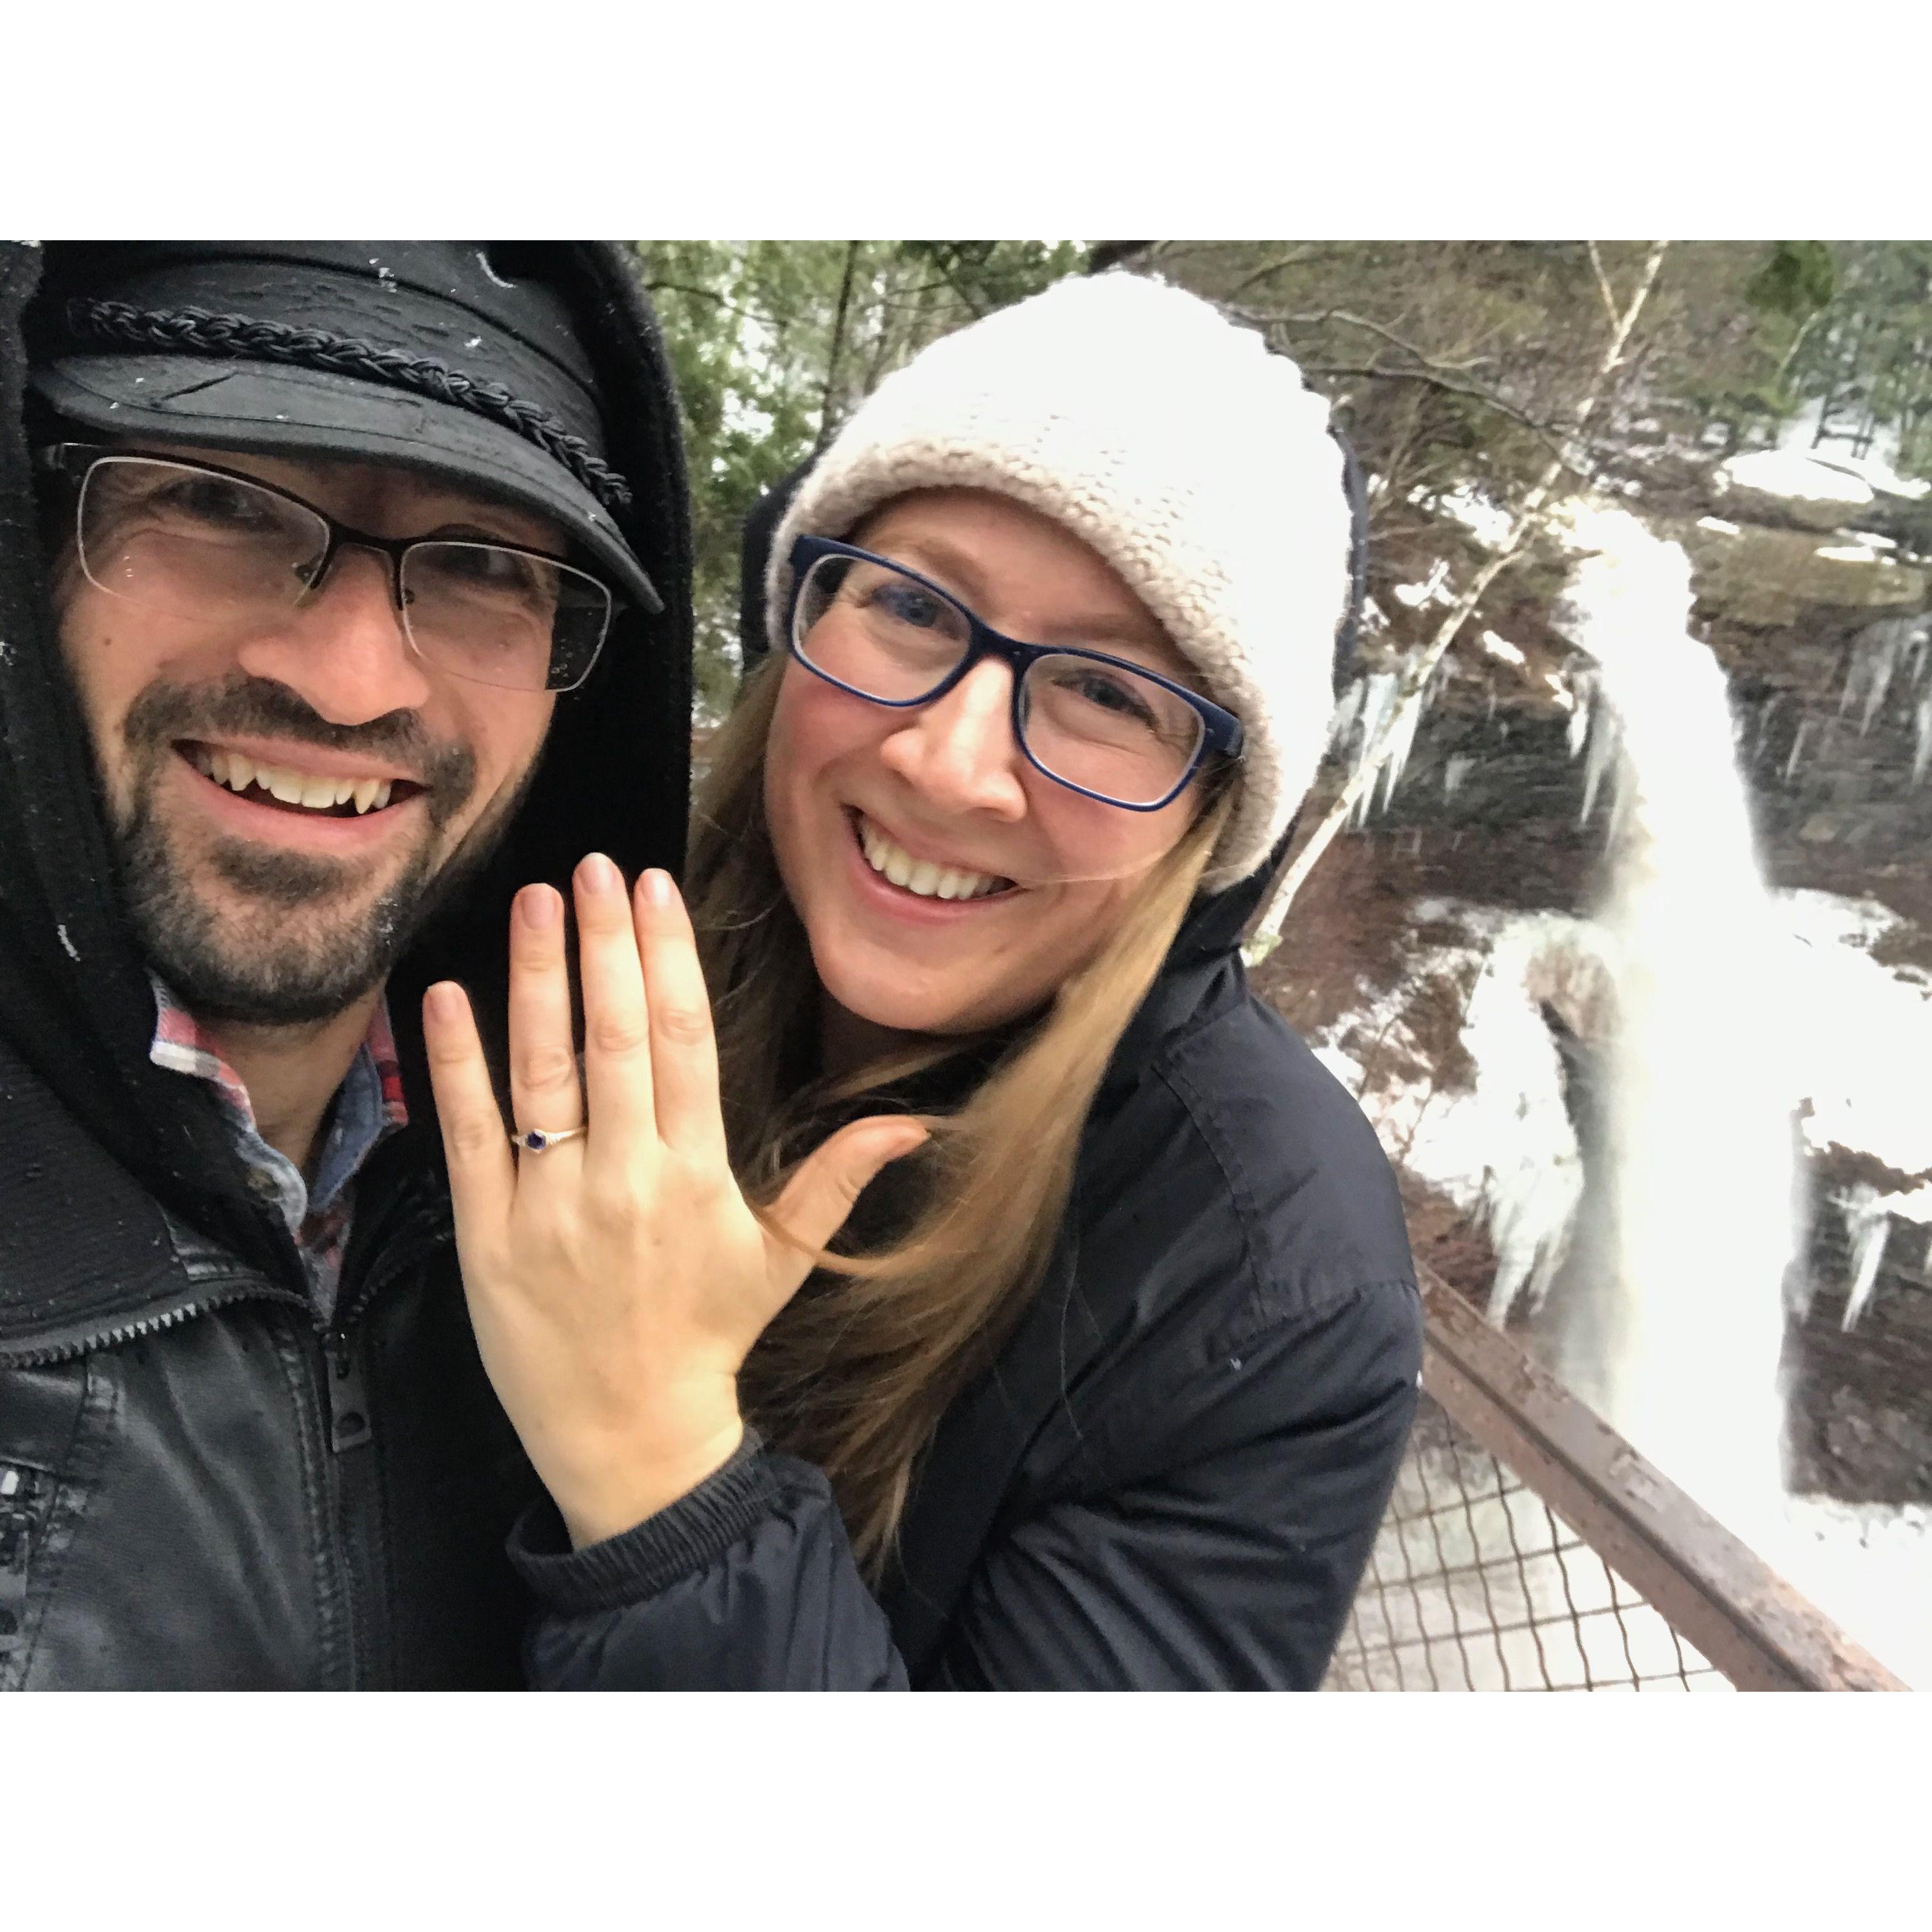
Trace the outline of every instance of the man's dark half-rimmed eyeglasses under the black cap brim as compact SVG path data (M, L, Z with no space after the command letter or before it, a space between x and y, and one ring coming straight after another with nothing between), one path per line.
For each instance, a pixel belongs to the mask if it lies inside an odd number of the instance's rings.
M317 591L346 549L388 560L402 632L425 665L510 692L568 692L603 649L616 599L560 556L468 537L371 537L213 464L58 442L77 483L87 582L174 616L270 620Z

